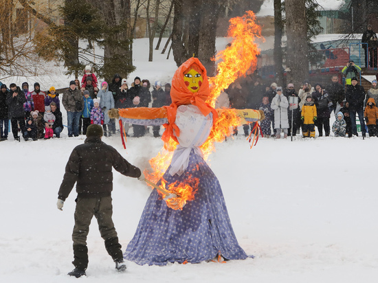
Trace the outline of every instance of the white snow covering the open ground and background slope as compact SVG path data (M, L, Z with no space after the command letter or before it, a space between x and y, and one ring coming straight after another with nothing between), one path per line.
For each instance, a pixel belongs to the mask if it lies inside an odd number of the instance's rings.
M164 82L173 76L172 56L167 62L166 55L157 51L154 62L148 63L148 55L137 47L136 75ZM0 282L74 282L67 272L74 268L71 231L76 194L71 192L63 212L56 201L69 154L84 137L67 138L65 128L61 139L19 143L12 134L8 138L0 142ZM140 168L146 168L163 146L152 131L143 138L128 138L126 150L119 136L103 140ZM228 139L216 145L208 163L221 183L236 237L254 259L166 267L126 262L126 273L117 273L93 219L87 278L79 280L376 282L378 192L370 157L376 145L375 137L298 137L259 139L251 150L240 135ZM113 172L113 220L124 250L151 189Z

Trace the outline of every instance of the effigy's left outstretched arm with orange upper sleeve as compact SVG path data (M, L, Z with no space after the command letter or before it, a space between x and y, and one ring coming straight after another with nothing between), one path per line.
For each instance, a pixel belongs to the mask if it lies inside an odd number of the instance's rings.
M167 111L165 107L135 107L125 109L111 109L109 111L109 117L111 117L112 119L122 120L122 122L124 123L144 126L160 126L168 122Z

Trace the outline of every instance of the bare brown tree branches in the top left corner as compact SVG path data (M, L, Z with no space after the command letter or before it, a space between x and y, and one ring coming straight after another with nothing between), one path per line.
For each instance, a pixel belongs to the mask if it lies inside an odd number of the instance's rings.
M38 12L39 8L43 8L39 1L33 2L34 7L38 8L32 8L25 0L19 2L23 5L22 10L16 10L16 1L0 1L0 76L3 78L35 76L37 71L38 74L48 73L47 62L38 56L38 49L49 48L49 41L45 38L53 34L49 33L48 25L38 23L37 19L49 25L54 23Z

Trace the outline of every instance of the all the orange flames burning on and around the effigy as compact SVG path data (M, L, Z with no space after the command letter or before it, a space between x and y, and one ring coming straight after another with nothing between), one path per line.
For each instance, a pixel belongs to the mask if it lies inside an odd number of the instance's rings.
M232 43L225 50L216 54L214 60L220 61L218 63L216 76L209 78L211 95L208 98L208 104L212 107L215 105L216 98L221 92L230 86L234 80L241 76L245 76L247 71L255 71L257 67L257 56L260 54L256 43L256 38L262 38L261 27L255 23L256 16L254 12L247 11L241 17L230 19L230 27L227 33L228 37L232 38ZM219 118L212 127L210 137L201 146L203 158L208 159L208 156L214 151L214 143L222 142L226 136L230 135L233 126L238 126L241 118L232 111L226 109L218 109ZM166 172L170 160L173 156L173 150L177 147L177 143L170 139L164 148L158 153L156 157L150 160L152 172L144 171L147 179L157 183L162 180L162 187L166 189L166 181L162 178ZM168 190L177 194L177 198L167 200L169 207L177 210L182 210L187 201L194 199L194 194L197 192L199 179L194 179L186 176L185 183L172 183L168 185ZM167 190L167 189L166 189ZM164 198L164 194L163 198Z

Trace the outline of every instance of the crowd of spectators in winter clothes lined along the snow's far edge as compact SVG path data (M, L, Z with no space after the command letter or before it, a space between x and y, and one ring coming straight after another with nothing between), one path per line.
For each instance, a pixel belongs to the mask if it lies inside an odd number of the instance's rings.
M353 61L349 61L342 73L346 77L346 86L340 84L337 74L331 76L324 87L315 83L311 86L304 81L298 92L292 83L280 87L276 82L265 86L258 76L250 73L245 78L238 78L225 89L216 101L216 108L259 109L264 112L265 120L260 122L263 137L280 139L288 136L328 137L333 131L337 137L358 136L356 115L359 117L362 136L377 136L378 99L377 81L366 94L358 84L357 75L361 71ZM152 91L150 91L152 88ZM105 136L117 131L114 119L108 115L109 109L133 107L162 107L170 105L170 84L156 81L151 87L147 79L135 77L129 85L125 78L115 74L113 80L99 84L93 69L85 67L81 83L71 80L63 94L56 93L54 87L41 91L40 84L34 83L34 90L23 82L21 88L12 83L0 89L0 128L1 140L8 139L9 120L14 139L49 139L60 137L63 131L62 110L67 112L68 137L85 135L90 124L100 124ZM335 122L330 125L331 115ZM367 127L365 126L365 122ZM244 135L248 136L254 125L243 125ZM124 125L126 135L132 128L133 137L143 137L147 126ZM160 137L160 126L153 126L153 136ZM234 128L233 135L238 135Z

